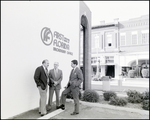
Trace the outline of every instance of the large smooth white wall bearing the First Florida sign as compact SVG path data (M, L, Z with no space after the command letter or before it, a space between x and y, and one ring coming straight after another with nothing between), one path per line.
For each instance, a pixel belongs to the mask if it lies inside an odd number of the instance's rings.
M39 106L35 69L48 59L63 71L62 90L69 80L71 60L79 58L79 2L1 2L1 118L9 118ZM53 51L41 40L49 27L70 39L73 55ZM55 100L55 95L54 99Z

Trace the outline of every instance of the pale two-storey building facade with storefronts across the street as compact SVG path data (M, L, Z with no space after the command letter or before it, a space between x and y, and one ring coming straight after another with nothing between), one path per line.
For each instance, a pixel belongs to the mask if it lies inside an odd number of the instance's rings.
M92 27L91 34L93 76L119 78L123 72L136 69L138 77L142 77L141 70L149 69L149 15L127 21L114 19L109 24L101 21Z

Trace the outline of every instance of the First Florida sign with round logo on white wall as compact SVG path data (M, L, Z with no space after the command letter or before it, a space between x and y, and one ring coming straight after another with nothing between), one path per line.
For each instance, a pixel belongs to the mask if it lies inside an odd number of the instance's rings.
M44 27L41 30L41 40L45 45L53 46L53 51L73 55L70 52L70 39L57 31L52 33L50 28Z

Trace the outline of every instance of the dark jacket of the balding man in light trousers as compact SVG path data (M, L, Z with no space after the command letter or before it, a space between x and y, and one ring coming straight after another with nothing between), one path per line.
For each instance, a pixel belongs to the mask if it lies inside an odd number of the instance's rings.
M47 78L48 76L46 75L43 66L36 68L34 73L34 80L37 87L41 86L41 88L45 90L47 86Z

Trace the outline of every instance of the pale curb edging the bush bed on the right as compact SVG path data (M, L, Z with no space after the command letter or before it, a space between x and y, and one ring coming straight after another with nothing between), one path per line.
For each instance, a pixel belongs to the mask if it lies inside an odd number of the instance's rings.
M67 99L66 101L73 102L72 99ZM85 101L80 101L80 103L83 105L92 106L92 107L100 107L100 108L113 109L113 110L122 110L122 111L127 111L127 112L132 112L132 113L133 112L139 113L141 115L149 115L149 111L147 111L147 110L140 110L140 109L135 109L135 108L125 108L125 107L105 105L105 104L100 104L100 103L90 103L90 102L85 102Z

